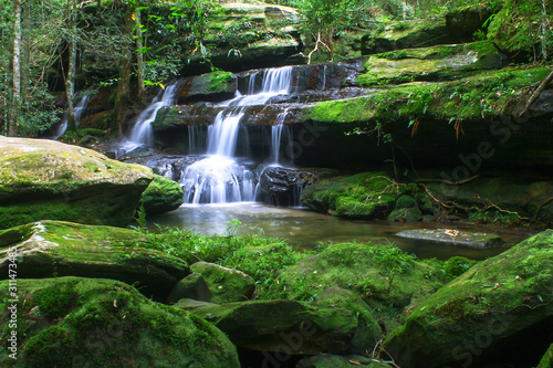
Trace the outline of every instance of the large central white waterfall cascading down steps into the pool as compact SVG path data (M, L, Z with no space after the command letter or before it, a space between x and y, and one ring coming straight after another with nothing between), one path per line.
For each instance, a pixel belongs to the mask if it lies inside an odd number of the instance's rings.
M250 76L247 95L237 93L221 103L226 108L217 115L208 128L208 158L188 166L180 178L185 203L228 203L254 200L254 176L234 158L240 119L244 107L263 105L271 97L288 94L292 81L292 67L267 70L261 90L254 92L255 77Z

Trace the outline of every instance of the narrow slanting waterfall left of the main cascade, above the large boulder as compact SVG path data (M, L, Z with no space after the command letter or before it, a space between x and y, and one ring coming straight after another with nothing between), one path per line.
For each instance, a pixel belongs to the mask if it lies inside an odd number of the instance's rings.
M161 107L170 106L175 103L175 93L177 90L176 84L168 85L163 95L156 96L148 107L142 112L134 125L128 138L122 141L122 148L127 153L132 151L140 146L152 146L153 143L153 129L152 123L156 119L157 112Z

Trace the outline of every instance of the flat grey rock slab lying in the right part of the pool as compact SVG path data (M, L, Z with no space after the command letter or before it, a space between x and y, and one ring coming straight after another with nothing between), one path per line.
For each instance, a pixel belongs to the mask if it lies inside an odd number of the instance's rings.
M453 246L491 248L503 244L503 240L495 234L484 232L468 232L453 229L416 229L405 230L396 234L401 238L420 239L447 243Z

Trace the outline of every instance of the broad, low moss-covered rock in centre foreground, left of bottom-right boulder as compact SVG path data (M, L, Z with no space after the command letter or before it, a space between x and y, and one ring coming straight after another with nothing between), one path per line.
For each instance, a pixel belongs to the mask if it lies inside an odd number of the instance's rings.
M444 285L437 277L440 267L439 261L418 261L390 245L338 243L282 270L279 283L290 298L316 299L325 288L337 286L400 309Z

